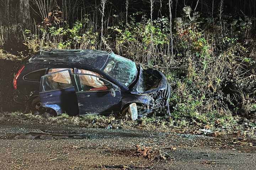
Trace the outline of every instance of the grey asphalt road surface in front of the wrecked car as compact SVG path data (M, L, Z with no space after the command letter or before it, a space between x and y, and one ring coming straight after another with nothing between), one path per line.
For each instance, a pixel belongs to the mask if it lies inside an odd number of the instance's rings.
M28 132L85 134L84 139L15 139ZM166 160L136 155L136 146L159 149ZM156 130L100 129L70 125L0 122L1 169L247 169L254 170L256 148L232 138ZM161 149L161 150L160 150Z

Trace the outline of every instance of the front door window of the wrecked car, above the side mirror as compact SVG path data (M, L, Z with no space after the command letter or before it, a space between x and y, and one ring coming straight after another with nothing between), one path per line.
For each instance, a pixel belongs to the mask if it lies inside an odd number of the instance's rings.
M79 82L79 91L106 91L111 88L117 89L110 82L96 75L75 75L75 79L76 82Z

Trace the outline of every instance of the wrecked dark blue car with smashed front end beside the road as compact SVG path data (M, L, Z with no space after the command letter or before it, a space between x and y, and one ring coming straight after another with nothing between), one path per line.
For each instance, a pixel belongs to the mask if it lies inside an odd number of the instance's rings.
M170 85L158 70L143 69L113 52L44 49L14 77L14 100L55 115L169 114ZM165 114L164 113L164 114Z

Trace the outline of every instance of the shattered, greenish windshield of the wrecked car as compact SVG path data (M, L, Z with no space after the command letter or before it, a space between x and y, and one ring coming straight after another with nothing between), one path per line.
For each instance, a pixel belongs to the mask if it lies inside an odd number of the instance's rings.
M122 85L129 86L137 75L137 67L127 58L110 53L103 72L119 81Z

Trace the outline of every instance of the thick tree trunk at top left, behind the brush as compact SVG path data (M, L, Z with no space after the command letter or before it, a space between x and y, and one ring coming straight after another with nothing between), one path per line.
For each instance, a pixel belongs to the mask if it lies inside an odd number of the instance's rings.
M24 24L27 21L30 21L29 0L20 0L19 13L18 13L18 22Z

